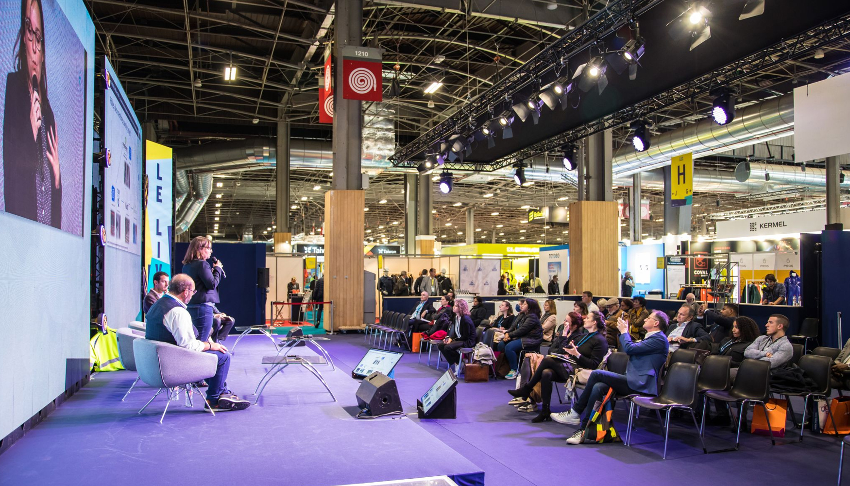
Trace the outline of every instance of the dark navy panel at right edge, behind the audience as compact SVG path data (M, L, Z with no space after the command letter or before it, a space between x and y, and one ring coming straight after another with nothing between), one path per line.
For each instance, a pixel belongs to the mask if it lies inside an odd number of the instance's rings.
M850 275L850 233L822 232L820 273L821 346L842 347L838 342L837 312L842 312L842 339L850 338L850 300L847 300L847 275ZM803 274L805 275L805 273ZM808 298L808 294L807 294Z

